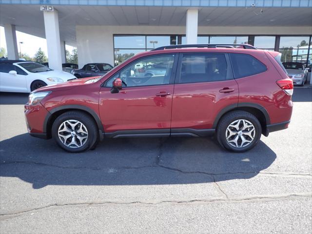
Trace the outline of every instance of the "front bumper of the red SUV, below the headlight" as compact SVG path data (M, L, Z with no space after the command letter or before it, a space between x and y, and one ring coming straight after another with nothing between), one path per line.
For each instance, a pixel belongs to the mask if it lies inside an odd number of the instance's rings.
M50 113L41 103L37 103L36 105L28 105L28 103L26 103L24 106L24 114L28 133L33 137L47 139L44 121L46 116Z

